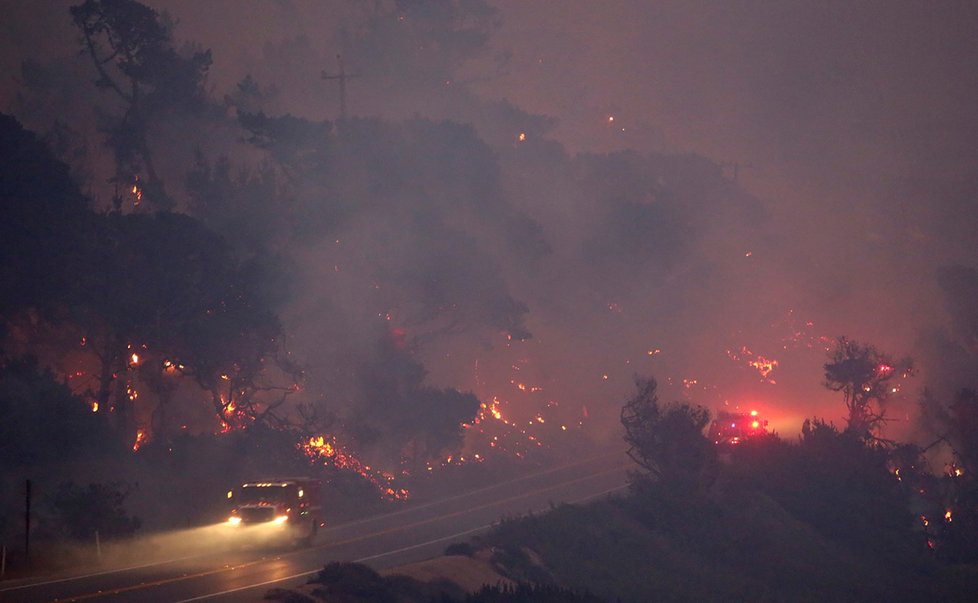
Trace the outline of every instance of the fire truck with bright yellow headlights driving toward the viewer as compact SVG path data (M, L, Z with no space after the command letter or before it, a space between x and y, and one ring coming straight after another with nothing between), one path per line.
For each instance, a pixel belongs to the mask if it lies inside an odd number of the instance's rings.
M264 526L283 538L309 545L322 520L322 482L311 478L275 478L245 482L228 491L228 524L241 530Z

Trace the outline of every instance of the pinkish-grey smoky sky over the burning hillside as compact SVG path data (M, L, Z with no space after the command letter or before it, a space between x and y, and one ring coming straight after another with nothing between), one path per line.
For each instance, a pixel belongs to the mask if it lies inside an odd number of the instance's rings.
M70 4L0 3L5 111L31 117L21 61L77 55ZM973 3L499 0L457 64L358 38L372 3L147 4L213 51L212 96L251 75L269 114L336 119L321 75L344 52L350 115L405 124L398 152L461 174L378 193L403 205L295 253L285 318L295 352L329 367L312 378L324 395L345 370L331 359L369 354L386 303L431 335L412 351L433 385L483 399L613 418L633 375L654 374L714 408L763 404L793 433L841 417L821 365L847 335L918 358L909 422L937 361L917 344L948 324L938 269L978 263ZM471 153L437 156L438 135ZM458 324L431 314L445 304ZM317 318L336 312L342 326ZM745 366L758 356L779 360L776 384Z

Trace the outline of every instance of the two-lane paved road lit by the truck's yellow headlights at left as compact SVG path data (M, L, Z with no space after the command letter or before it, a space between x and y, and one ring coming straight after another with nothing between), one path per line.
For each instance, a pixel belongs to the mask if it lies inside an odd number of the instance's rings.
M130 551L98 571L0 583L0 602L21 601L261 601L271 588L308 581L331 561L383 569L441 554L451 542L488 530L504 517L541 512L620 491L624 454L604 454L510 481L329 526L311 547L232 546L210 526L155 543L154 553ZM223 535L223 536L222 536ZM142 559L142 560L141 560Z

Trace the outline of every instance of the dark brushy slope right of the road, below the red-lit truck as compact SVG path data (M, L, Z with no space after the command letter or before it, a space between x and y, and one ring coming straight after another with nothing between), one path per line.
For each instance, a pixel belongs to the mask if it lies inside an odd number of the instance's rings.
M978 440L961 427L978 401L951 406L955 460L936 475L921 449L866 431L862 411L842 430L806 421L798 441L723 449L702 434L708 413L662 406L640 381L622 415L640 467L629 495L504 522L481 546L512 579L609 600L973 600Z

